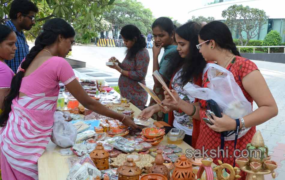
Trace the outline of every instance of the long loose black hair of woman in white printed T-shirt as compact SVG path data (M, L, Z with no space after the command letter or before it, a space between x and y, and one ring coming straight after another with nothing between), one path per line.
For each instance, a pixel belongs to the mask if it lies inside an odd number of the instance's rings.
M175 30L175 33L190 42L190 52L185 58L182 58L177 51L172 52L165 57L171 62L171 67L168 67L167 69L169 75L173 75L172 73L174 71L182 67L182 73L180 73L179 78L182 79L183 85L187 84L187 82L192 79L198 79L199 76L202 76L201 73L206 65L206 61L196 47L200 29L201 25L197 22L187 22L178 27Z

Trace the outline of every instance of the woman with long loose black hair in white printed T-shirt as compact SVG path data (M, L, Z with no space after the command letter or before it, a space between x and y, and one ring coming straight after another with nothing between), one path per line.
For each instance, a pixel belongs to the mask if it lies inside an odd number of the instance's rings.
M201 85L202 71L206 64L201 53L196 48L200 29L200 24L196 22L188 22L177 28L175 30L175 39L178 43L177 51L165 57L166 59L170 59L171 63L171 67L168 67L167 73L173 74L170 81L170 89L177 91L179 97L189 104L193 103L195 98L184 91L183 86L187 82ZM162 110L161 106L155 104L144 109L139 117L149 119L154 113ZM199 121L192 119L191 116L179 108L169 106L168 124L184 130L186 135L183 140L190 146L195 147L199 134Z

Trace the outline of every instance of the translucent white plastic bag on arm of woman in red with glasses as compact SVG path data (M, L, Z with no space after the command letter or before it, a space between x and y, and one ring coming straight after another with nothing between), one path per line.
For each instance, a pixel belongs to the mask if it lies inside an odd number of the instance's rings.
M207 72L208 70L208 72ZM241 88L235 82L233 74L225 68L208 63L204 69L203 77L207 72L209 83L208 88L201 88L198 85L187 83L183 88L193 98L202 100L212 99L216 101L223 113L230 116L232 119L244 117L252 112L251 103L247 101ZM223 74L217 76L217 73ZM238 138L242 137L250 128L244 131L239 131ZM225 140L234 140L235 134L225 137Z

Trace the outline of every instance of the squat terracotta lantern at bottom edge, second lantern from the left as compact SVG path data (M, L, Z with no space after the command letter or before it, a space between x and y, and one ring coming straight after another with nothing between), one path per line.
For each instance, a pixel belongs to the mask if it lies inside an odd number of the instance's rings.
M118 180L140 180L141 169L136 166L133 158L128 158L124 165L118 167Z

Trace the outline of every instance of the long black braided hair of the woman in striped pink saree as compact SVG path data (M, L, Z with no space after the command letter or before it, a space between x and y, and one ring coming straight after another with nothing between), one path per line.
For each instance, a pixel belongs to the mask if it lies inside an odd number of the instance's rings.
M58 35L62 35L64 38L71 38L75 36L75 31L73 27L63 19L54 18L48 20L44 24L42 32L38 35L35 41L35 46L32 47L31 51L26 56L25 61L21 63L21 68L26 70L36 55L43 50L45 46L52 45L57 41ZM10 93L4 100L4 110L0 116L0 126L4 126L9 118L12 101L14 98L19 96L20 85L23 77L24 72L19 71L12 79Z

